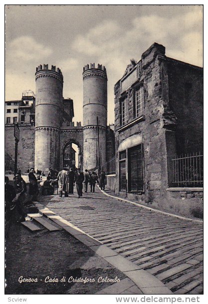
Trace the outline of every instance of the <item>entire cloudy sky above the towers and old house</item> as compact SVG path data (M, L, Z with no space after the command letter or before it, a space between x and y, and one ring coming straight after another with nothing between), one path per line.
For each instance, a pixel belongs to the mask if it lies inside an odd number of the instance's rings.
M114 84L131 58L154 42L166 55L203 65L202 5L7 5L6 100L35 91L35 69L61 68L63 96L82 121L83 66L100 63L108 75L108 122L114 122Z

